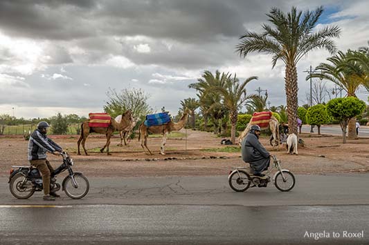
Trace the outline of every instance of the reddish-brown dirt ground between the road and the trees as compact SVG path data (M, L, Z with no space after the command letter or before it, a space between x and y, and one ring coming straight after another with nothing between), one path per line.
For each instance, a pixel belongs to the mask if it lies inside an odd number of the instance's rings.
M94 177L138 177L138 176L206 176L228 175L232 166L246 166L240 152L212 152L205 149L224 148L222 138L212 133L181 130L187 137L168 138L167 155L159 155L161 138L149 138L148 146L154 155L145 155L137 139L128 146L117 146L120 139L111 139L112 155L100 153L98 148L105 144L103 135L90 135L87 139L89 156L77 155L78 135L51 136L74 159L73 170ZM288 155L285 146L273 148L268 137L261 141L267 150L282 161L282 167L295 174L364 173L369 171L369 138L348 140L342 144L339 136L305 133L300 135L305 147L298 148L299 155ZM187 138L187 139L186 139ZM22 137L0 137L0 176L8 177L11 166L28 165L27 144ZM82 147L81 147L81 151ZM55 167L61 158L49 155ZM248 164L247 164L248 165Z

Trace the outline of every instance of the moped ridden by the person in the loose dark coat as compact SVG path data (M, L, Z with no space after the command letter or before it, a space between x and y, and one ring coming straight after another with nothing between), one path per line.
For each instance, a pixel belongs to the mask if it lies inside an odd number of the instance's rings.
M280 166L280 160L277 159L275 155L271 156L273 158L273 168L278 171L273 176L273 183L280 191L289 191L294 188L296 179L293 173L287 169L282 169ZM247 190L251 184L251 187L267 187L268 183L271 182L271 171L270 168L264 177L250 175L246 172L246 167L233 167L228 175L228 184L231 188L237 192Z

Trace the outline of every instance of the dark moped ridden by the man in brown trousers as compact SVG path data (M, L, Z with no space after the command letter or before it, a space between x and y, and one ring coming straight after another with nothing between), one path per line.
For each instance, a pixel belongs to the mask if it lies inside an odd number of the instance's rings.
M64 190L65 194L72 199L81 199L89 192L89 180L82 173L73 172L73 159L68 153L60 153L63 157L63 163L51 173L50 191L56 192ZM17 169L15 169L17 168ZM62 186L56 183L56 176L68 170ZM42 176L39 170L34 166L12 166L9 176L10 193L18 199L27 199L35 193L35 191L43 190Z

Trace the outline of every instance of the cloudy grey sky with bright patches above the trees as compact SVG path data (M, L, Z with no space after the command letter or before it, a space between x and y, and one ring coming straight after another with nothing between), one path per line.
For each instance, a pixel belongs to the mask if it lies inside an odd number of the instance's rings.
M325 12L316 30L336 25L339 50L367 46L369 3L352 1L2 0L0 1L0 114L51 117L102 112L109 89L141 88L153 110L177 114L188 88L205 70L257 76L247 94L267 90L270 106L286 104L285 66L235 46L246 30L261 32L271 8ZM299 104L307 104L309 66L330 53L315 50L298 63ZM313 81L314 83L314 81ZM327 81L330 90L334 84ZM264 94L265 91L262 92ZM368 92L360 88L360 99Z

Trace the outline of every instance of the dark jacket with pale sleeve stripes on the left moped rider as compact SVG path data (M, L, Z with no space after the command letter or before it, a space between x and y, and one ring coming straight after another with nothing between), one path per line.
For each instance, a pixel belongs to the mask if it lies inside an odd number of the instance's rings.
M62 148L49 139L46 134L41 133L37 129L30 135L30 140L28 141L28 161L46 159L46 152L53 153L55 151L62 152Z

